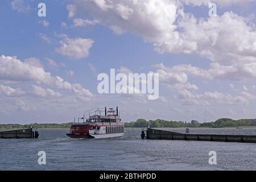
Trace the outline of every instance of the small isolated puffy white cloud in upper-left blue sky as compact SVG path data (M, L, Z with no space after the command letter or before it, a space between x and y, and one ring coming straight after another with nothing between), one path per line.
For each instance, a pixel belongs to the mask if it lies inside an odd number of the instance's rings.
M56 48L56 52L70 59L79 60L89 55L89 49L94 41L92 39L82 38L64 38L60 41L61 47Z

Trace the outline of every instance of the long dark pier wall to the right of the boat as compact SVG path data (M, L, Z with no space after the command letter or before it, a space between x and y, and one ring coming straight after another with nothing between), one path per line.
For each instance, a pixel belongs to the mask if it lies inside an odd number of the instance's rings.
M256 135L208 135L208 134L183 134L172 131L157 129L146 130L146 139L166 139L166 140L196 140L212 142L244 142L256 143ZM144 138L142 135L142 138Z

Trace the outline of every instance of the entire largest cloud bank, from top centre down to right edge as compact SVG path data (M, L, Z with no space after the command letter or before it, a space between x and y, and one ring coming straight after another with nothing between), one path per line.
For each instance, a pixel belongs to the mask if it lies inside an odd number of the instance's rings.
M199 5L204 2L208 1L200 1ZM88 10L118 34L129 31L142 36L160 53L195 53L220 64L256 62L255 27L232 12L196 19L184 13L179 1L166 0L73 1L73 6L80 16Z

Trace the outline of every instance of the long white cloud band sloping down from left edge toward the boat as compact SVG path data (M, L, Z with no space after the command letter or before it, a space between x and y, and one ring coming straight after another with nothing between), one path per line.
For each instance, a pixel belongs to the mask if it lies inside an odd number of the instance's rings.
M60 76L52 76L51 73L44 71L44 68L24 63L17 57L0 56L0 80L35 81L37 84L48 85L52 88L71 90L77 96L87 99L93 97L93 94L82 88L80 84L71 84Z

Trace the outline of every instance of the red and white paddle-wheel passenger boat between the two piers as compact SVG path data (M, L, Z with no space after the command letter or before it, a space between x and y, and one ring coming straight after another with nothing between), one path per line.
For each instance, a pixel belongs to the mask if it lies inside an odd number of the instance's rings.
M125 134L125 124L121 122L119 117L118 107L116 110L113 108L104 110L97 108L85 112L78 122L74 120L68 137L71 138L113 138L122 137ZM93 114L91 115L91 112ZM104 112L104 115L101 113ZM88 114L88 117L85 117ZM82 121L82 122L80 122Z

